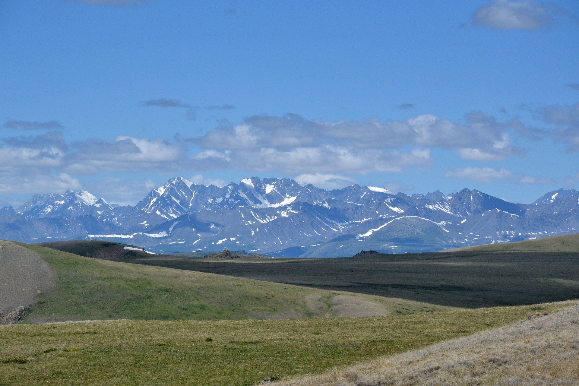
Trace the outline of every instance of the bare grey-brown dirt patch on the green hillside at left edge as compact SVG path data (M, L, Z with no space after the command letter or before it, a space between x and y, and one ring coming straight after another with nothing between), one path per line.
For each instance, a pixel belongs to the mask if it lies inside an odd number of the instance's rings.
M48 264L39 253L0 240L0 314L28 307L52 284Z

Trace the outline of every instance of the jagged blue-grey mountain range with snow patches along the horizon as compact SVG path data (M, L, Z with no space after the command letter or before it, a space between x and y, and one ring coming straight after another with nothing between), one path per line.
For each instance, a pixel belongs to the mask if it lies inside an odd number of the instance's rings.
M430 252L577 233L579 192L559 189L532 204L478 190L394 194L339 190L292 179L244 178L222 188L172 178L133 206L85 190L35 194L0 209L0 238L23 242L111 240L151 252L233 249L286 257L351 256L361 250Z

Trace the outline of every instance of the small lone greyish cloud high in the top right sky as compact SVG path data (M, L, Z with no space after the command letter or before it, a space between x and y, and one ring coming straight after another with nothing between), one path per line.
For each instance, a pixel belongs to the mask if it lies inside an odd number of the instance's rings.
M482 5L472 14L475 25L497 30L538 30L553 21L548 9L533 0L496 0Z

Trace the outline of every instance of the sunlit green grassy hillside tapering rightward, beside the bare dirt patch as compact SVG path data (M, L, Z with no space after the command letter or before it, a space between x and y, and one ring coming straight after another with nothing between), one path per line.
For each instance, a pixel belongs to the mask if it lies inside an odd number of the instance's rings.
M86 258L36 245L53 285L27 322L99 319L283 319L450 310L411 300L331 292L211 273Z

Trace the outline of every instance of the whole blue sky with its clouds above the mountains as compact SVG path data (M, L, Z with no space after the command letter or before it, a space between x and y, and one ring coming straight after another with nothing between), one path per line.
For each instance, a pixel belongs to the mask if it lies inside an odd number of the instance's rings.
M0 207L169 178L579 189L579 2L0 0Z

